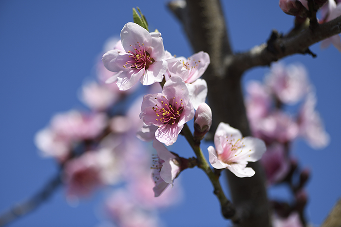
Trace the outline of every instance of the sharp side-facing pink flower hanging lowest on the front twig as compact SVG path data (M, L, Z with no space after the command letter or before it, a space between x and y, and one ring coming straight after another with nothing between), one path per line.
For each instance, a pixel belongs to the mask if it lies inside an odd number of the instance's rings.
M181 170L177 158L162 143L154 140L153 148L157 152L157 156L153 158L152 165L152 178L155 183L153 191L155 197L158 197L170 184L173 186L173 181L180 174Z

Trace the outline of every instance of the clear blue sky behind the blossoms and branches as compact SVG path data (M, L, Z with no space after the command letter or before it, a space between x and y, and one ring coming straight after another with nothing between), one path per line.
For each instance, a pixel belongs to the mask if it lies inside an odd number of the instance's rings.
M57 172L52 159L38 155L35 133L45 127L56 112L85 108L77 99L77 89L93 66L104 41L117 35L132 21L132 8L139 6L150 29L158 29L165 49L178 56L192 54L178 21L166 7L167 1L151 0L1 0L0 1L0 213L37 192ZM234 51L246 51L265 42L272 29L287 32L293 17L285 15L278 0L224 1L231 44ZM295 55L288 64L302 62L317 88L318 105L331 136L330 145L312 150L303 140L293 144L293 154L312 178L307 186L307 217L321 224L341 195L341 54L335 48L311 50L318 57ZM267 68L246 73L262 80ZM203 150L208 145L204 144ZM180 143L173 148L185 147ZM188 151L179 151L184 157ZM226 226L217 199L201 170L181 174L185 199L161 217L169 227ZM176 183L176 182L175 182ZM281 196L283 190L271 193ZM274 195L273 195L274 194ZM96 210L101 193L70 207L64 192L57 192L33 213L12 223L12 227L94 227L101 223Z

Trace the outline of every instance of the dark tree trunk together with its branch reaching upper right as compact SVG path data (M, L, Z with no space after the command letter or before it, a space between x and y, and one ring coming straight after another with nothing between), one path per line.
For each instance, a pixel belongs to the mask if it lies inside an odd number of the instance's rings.
M309 51L310 45L341 33L341 17L338 17L296 35L282 36L273 32L267 43L233 54L219 0L174 0L169 8L182 22L193 51L205 51L210 56L211 63L203 78L208 83L211 129L215 131L219 122L226 122L241 130L243 136L250 135L241 88L243 73L295 53L314 55ZM264 171L258 162L249 166L256 171L253 177L239 178L227 173L236 208L232 220L238 227L269 227Z

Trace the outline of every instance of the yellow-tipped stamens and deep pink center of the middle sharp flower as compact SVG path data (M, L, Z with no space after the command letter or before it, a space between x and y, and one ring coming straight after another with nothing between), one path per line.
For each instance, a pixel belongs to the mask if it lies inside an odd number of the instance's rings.
M175 97L173 97L171 99L170 104L169 100L165 96L162 96L161 106L158 106L156 104L155 106L152 107L157 116L156 121L159 121L164 125L167 124L172 125L178 123L180 120L182 110L184 108L182 99L180 101L181 102L179 104L178 102L175 101Z

